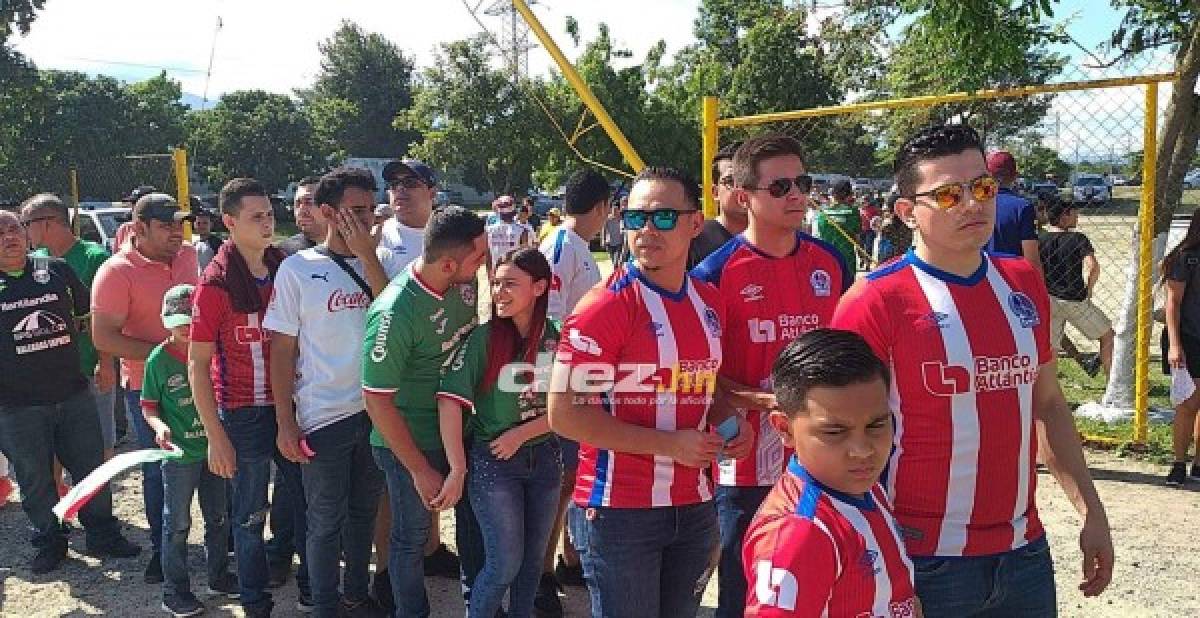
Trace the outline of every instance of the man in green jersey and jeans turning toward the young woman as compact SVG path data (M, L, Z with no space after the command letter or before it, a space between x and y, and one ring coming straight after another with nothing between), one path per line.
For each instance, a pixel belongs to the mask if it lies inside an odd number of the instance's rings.
M367 311L362 390L374 430L374 458L388 480L391 556L388 572L397 616L428 616L422 569L432 511L449 472L434 392L442 366L476 319L475 277L487 241L484 221L449 206L425 228L425 252ZM469 599L482 541L468 500L455 509L458 556Z

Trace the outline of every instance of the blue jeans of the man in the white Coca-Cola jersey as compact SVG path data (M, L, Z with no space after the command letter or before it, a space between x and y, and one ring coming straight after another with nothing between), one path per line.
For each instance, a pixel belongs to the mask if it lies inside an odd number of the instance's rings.
M383 473L371 461L371 419L360 412L307 436L317 455L301 467L308 502L308 576L316 616L337 616L338 559L347 601L367 599L371 540Z

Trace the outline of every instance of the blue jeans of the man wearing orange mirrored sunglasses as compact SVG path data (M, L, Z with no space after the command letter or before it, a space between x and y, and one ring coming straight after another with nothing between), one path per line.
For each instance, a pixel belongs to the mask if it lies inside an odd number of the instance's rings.
M1044 535L997 556L914 557L912 565L917 596L930 618L1057 616L1054 560Z

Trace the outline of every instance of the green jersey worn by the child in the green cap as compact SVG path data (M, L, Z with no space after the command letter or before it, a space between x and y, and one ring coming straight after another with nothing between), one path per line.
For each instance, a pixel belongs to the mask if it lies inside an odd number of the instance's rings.
M170 442L184 451L179 463L196 463L209 456L209 436L187 382L187 359L176 356L167 343L160 343L146 356L142 408L157 410L170 427Z

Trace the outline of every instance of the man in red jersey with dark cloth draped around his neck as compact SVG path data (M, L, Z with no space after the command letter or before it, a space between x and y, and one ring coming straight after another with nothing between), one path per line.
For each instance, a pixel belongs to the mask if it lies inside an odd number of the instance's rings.
M271 596L263 524L272 454L284 479L276 491L301 491L299 466L275 449L270 341L263 329L284 254L271 246L275 214L262 184L233 179L221 188L218 203L229 242L217 250L196 290L188 379L209 437L209 468L233 479L239 598L246 616L265 616ZM299 509L294 515L302 517Z

